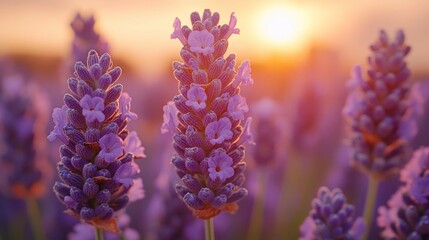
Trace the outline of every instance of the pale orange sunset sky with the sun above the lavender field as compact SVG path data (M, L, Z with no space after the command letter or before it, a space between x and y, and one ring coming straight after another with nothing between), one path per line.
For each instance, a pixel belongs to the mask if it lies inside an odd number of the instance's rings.
M350 62L365 64L368 44L378 30L405 30L413 46L409 64L429 69L427 0L0 0L0 55L10 52L66 56L74 14L94 14L96 28L112 54L129 59L141 73L158 74L178 59L180 42L170 39L175 17L189 25L189 14L218 11L221 23L231 12L241 33L229 51L263 61L273 54L299 59L316 44L331 47Z

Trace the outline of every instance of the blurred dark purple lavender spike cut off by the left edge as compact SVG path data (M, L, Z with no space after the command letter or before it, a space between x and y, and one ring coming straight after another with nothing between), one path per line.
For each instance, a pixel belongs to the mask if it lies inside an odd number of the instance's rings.
M13 197L41 197L52 172L44 138L47 100L20 76L0 80L0 189Z

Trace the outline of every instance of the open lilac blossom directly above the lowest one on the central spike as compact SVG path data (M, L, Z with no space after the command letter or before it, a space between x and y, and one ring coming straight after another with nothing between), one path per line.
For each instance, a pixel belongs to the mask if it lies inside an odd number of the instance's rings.
M232 138L231 120L227 117L207 124L205 134L211 144L223 143Z

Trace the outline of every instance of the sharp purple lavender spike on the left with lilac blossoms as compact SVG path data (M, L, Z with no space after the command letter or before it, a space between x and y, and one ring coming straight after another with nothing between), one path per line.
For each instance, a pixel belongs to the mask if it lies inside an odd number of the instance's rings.
M116 84L121 68L112 68L109 54L88 53L87 65L77 62L68 80L65 105L54 109L54 130L48 139L61 140L61 161L54 192L66 213L96 228L119 232L117 213L130 201L143 198L141 141L127 130L137 115L131 98Z

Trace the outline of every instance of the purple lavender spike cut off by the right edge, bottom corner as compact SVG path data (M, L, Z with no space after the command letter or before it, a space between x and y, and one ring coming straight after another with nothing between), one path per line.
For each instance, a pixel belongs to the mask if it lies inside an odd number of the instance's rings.
M401 171L404 186L392 196L387 207L378 209L377 223L384 239L429 238L429 147L414 152Z

